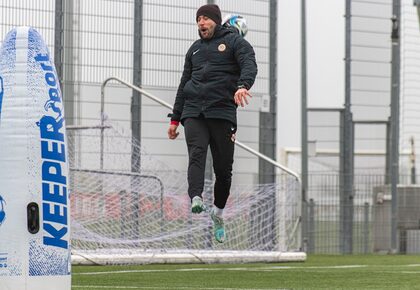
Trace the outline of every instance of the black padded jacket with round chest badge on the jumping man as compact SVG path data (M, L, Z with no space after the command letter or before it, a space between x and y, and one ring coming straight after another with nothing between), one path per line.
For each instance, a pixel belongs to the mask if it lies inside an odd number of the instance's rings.
M198 39L185 56L171 120L202 115L236 126L233 96L238 87L250 89L256 75L252 46L237 32L217 25L211 39Z

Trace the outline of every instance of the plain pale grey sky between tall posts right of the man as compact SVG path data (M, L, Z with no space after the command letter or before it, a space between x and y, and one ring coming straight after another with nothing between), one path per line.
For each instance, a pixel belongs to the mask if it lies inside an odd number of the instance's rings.
M280 0L278 148L300 147L301 1ZM309 107L344 103L345 1L307 0ZM287 124L287 126L285 126Z

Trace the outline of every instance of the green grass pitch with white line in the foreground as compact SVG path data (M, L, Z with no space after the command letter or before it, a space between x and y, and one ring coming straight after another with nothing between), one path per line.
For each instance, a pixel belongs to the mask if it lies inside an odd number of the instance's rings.
M308 256L280 264L74 266L72 290L420 289L420 256Z

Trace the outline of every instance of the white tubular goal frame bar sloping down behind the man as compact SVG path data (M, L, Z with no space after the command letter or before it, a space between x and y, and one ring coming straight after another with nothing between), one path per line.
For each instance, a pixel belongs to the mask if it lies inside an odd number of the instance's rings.
M139 87L137 87L137 86L135 86L133 84L130 84L130 83L128 83L128 82L126 82L126 81L124 81L124 80L122 80L120 78L117 78L117 77L109 77L109 78L107 78L102 83L102 85L101 85L101 144L100 144L100 147L101 147L101 161L100 161L101 162L100 163L101 164L101 169L103 169L103 150L104 150L103 149L103 144L104 144L103 143L104 142L104 140L103 140L104 134L103 133L104 133L104 128L105 128L105 126L104 126L105 125L104 124L105 123L105 120L104 120L104 113L105 113L105 86L111 80L117 81L117 82L119 82L119 83L121 83L121 84L123 84L123 85L125 85L125 86L127 86L127 87L129 87L129 88L131 88L131 89L133 89L133 90L135 90L137 92L139 92L140 94L142 94L142 95L148 97L149 99L151 99L151 100L153 100L153 101L161 104L162 106L168 108L171 111L173 109L172 105L168 104L167 102L159 99L158 97L152 95L151 93L149 93L149 92L147 92L147 91L145 91L145 90L143 90L143 89L141 89L141 88L139 88ZM268 157L268 156L266 156L264 154L261 154L260 152L252 149L251 147L248 147L247 145L239 142L238 140L235 141L235 144L237 146L239 146L240 148L248 151L249 153L257 156L258 158L261 158L261 159L265 160L266 162L270 163L271 165L279 168L280 170L282 170L282 171L284 171L284 172L292 175L293 177L296 178L296 180L298 181L298 183L301 184L300 177L299 177L299 175L296 172L294 172L294 171L290 170L289 168L281 165L280 163L276 162L275 160L271 159L270 157Z

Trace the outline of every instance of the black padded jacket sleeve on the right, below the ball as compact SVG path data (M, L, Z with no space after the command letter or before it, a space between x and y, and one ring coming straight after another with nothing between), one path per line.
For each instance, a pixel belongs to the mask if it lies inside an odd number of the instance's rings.
M241 69L237 86L245 87L249 90L254 84L258 72L254 48L248 41L239 35L236 37L234 47L235 58Z

